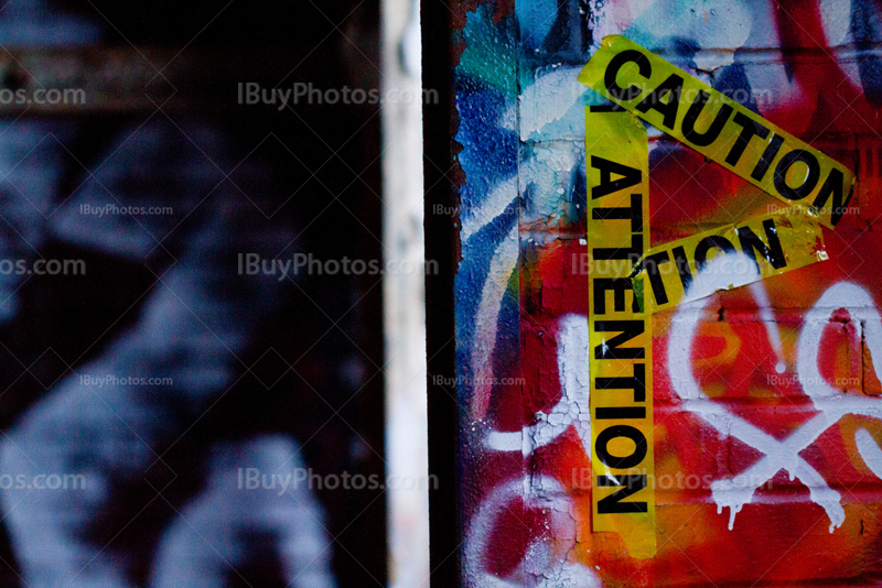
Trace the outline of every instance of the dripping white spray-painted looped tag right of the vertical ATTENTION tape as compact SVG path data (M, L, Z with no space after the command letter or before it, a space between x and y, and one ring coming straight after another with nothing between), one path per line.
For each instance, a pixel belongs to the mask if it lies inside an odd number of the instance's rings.
M743 255L739 253L732 257ZM710 292L724 287L729 279L713 269L714 265L721 264L722 260L722 255L716 258L708 265L708 271L698 275L693 287L699 292ZM813 399L820 414L781 442L730 413L722 404L713 402L699 389L698 382L692 374L690 356L692 339L701 318L701 311L707 306L708 302L708 298L700 298L684 304L675 316L668 339L668 369L671 384L682 399L685 410L701 416L721 435L731 435L765 454L762 459L736 478L718 480L711 484L718 512L722 512L724 507L729 507L729 529L733 529L735 514L741 511L744 504L751 502L756 489L783 469L789 473L790 479L796 478L802 481L809 490L810 500L824 508L830 519L829 531L832 533L846 519L845 510L840 504L840 494L832 490L824 477L798 454L811 445L821 433L836 424L845 414L882 417L882 403L878 400L846 395L841 391L833 389L820 377L817 363L821 331L828 324L832 312L838 308L849 308L852 317L862 320L867 333L867 342L874 357L876 351L882 351L882 320L872 298L859 286L839 283L831 286L806 314L805 326L798 344L797 373L799 380L804 383L805 393ZM768 308L768 316L763 317L763 319L768 322L771 318L774 322L774 315L771 313L767 297L763 296L759 302L761 306ZM779 349L779 344L777 349ZM865 440L863 438L864 446L867 446ZM871 469L880 466L880 471L882 471L882 451L879 454L869 453L865 447L861 449L860 443L859 450L861 450L864 460L873 461L874 465L871 466Z

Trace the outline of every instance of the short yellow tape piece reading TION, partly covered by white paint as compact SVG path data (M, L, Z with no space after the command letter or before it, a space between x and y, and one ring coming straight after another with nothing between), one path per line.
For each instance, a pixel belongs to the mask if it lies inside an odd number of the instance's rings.
M816 218L788 208L654 247L633 275L648 283L646 307L654 313L826 259Z

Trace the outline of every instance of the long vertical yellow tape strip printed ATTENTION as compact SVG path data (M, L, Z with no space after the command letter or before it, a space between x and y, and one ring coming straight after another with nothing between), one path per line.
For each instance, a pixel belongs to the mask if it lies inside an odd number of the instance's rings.
M656 552L653 329L641 276L649 246L649 145L626 111L585 109L592 529Z

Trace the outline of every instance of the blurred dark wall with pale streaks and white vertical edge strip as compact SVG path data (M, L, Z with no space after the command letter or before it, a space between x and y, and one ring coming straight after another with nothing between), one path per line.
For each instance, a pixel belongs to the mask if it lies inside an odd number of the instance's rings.
M385 22L388 74L377 1L0 9L0 584L385 586L387 515L428 576L427 480L384 483L426 444Z

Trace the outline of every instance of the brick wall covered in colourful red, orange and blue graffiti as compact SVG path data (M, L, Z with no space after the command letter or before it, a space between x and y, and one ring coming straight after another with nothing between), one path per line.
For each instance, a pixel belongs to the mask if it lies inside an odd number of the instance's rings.
M882 585L882 3L471 0L453 12L463 584ZM647 318L654 512L617 530L594 520L592 492L609 491L592 468L590 398L587 145L604 127L587 111L610 101L578 80L607 35L857 177L835 229L818 229L822 260L741 287L708 263L690 287L723 291ZM783 206L638 124L646 248Z

